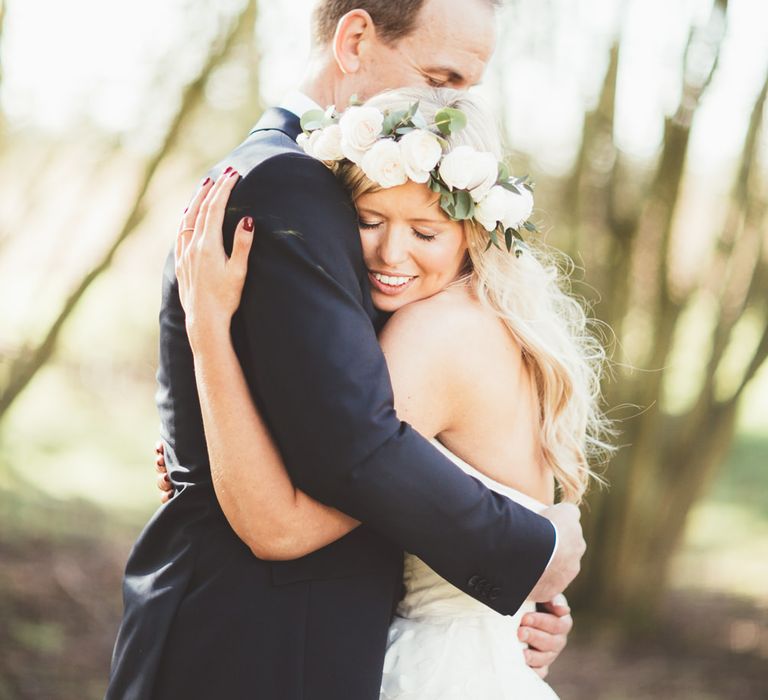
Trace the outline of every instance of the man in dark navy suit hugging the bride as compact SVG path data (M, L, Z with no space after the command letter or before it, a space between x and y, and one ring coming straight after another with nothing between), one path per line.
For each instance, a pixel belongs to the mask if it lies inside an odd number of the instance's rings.
M397 419L376 339L385 319L368 294L354 207L295 144L299 115L316 105L478 82L494 9L492 0L321 0L301 92L269 110L212 173L229 166L243 176L226 244L241 217L256 222L232 329L254 400L296 485L364 525L283 562L253 556L229 527L211 484L171 256L158 405L176 495L129 559L108 698L375 700L403 549L504 614L532 590L551 599L578 572L577 509L531 513ZM535 635L546 641L558 619L542 618L549 628L529 634L551 659L558 649Z

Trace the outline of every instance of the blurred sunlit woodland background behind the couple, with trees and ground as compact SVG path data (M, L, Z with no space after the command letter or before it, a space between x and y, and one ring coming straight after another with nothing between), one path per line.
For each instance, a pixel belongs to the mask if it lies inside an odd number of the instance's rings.
M0 700L103 693L158 503L161 266L310 8L0 0ZM768 3L516 0L499 34L478 89L612 329L625 445L550 680L768 698Z

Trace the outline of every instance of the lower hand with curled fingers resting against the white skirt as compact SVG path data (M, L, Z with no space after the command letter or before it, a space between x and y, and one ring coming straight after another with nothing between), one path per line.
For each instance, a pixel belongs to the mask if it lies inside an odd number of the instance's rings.
M538 612L523 616L518 630L521 642L528 644L525 662L541 677L546 678L549 667L565 649L573 629L571 608L564 595L548 603L540 603Z

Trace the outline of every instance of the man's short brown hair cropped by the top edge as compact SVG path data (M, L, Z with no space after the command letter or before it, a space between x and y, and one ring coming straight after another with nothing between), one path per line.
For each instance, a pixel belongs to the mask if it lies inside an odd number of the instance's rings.
M365 10L376 32L387 43L395 43L416 28L416 18L426 0L320 0L314 13L314 39L318 46L331 42L339 20L352 10ZM494 7L501 0L488 0Z

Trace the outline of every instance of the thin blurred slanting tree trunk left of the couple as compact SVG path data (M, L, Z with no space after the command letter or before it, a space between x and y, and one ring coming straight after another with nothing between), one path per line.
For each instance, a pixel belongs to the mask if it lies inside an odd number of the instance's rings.
M13 402L53 356L62 329L78 308L85 293L93 282L109 269L117 251L137 230L146 213L146 196L156 172L165 158L173 151L182 129L190 121L195 110L203 103L205 99L205 86L211 74L230 56L233 49L244 38L252 41L252 32L256 23L257 13L257 0L249 0L244 9L229 21L223 35L214 42L208 58L201 67L197 77L185 87L179 102L179 108L169 123L162 144L145 163L139 178L133 206L130 208L112 244L102 258L96 262L76 285L62 305L53 323L43 334L42 340L34 345L28 344L10 363L3 377L3 382L0 384L0 422L7 415Z

